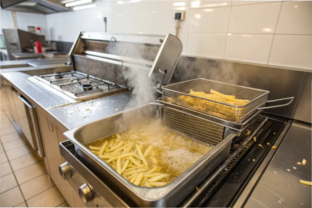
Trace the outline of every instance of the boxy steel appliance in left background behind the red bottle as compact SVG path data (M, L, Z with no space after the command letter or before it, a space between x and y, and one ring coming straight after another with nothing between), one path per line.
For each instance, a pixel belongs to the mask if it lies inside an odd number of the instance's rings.
M45 46L45 36L19 29L2 29L7 53L10 60L14 60L13 53L24 53L33 51L33 44L36 41Z

